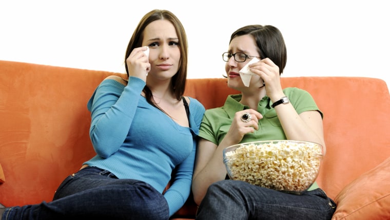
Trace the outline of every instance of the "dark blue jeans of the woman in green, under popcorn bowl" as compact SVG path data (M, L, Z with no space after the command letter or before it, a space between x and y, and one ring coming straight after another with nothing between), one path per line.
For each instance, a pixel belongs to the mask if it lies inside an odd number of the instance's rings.
M334 201L316 189L302 195L253 186L244 181L214 182L199 206L196 219L331 219Z

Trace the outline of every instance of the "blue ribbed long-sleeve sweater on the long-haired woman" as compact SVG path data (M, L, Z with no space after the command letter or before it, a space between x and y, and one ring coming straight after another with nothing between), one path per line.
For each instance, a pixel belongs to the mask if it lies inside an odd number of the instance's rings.
M130 77L127 86L108 79L96 88L88 102L96 156L85 164L109 170L118 178L145 181L159 192L177 168L164 194L172 215L190 193L196 138L205 108L190 98L190 127L183 127L140 95L144 86L143 80Z

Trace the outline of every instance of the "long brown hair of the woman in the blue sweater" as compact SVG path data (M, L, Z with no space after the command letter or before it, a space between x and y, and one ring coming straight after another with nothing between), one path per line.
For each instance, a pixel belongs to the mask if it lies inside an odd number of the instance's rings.
M184 27L178 17L176 17L172 12L167 10L154 9L142 17L140 23L135 28L133 35L130 38L129 44L127 45L126 55L125 55L125 67L127 76L129 72L127 69L126 59L129 57L131 51L136 47L142 46L142 41L144 38L144 30L147 25L157 20L167 20L172 23L176 33L179 38L179 48L180 48L180 64L178 72L172 77L171 86L177 100L180 100L184 94L185 84L187 79L187 63L188 63L188 43L187 43L187 34L184 30ZM157 107L154 103L154 99L151 93L151 90L147 85L144 87L144 93L146 100L153 106Z

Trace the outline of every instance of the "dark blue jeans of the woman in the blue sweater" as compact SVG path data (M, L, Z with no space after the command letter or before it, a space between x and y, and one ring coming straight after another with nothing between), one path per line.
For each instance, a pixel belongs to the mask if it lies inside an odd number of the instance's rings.
M164 196L149 184L86 167L62 182L53 201L7 208L2 220L168 218Z

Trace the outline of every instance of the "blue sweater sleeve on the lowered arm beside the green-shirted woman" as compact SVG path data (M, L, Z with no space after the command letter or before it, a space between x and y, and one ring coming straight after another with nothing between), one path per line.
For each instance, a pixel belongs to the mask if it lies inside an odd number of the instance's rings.
M169 216L177 212L187 200L191 191L191 181L197 149L197 140L199 126L205 112L204 106L195 99L191 99L190 108L190 127L193 132L193 143L191 154L177 167L175 175L171 180L172 185L165 192L164 197L169 206Z

